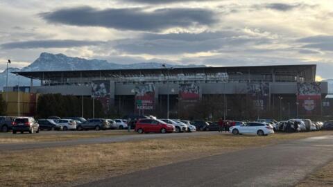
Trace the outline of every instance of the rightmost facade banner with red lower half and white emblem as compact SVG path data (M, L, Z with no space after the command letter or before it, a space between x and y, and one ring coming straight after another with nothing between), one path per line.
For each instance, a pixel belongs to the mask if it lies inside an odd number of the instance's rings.
M298 113L305 116L321 114L321 82L297 84Z

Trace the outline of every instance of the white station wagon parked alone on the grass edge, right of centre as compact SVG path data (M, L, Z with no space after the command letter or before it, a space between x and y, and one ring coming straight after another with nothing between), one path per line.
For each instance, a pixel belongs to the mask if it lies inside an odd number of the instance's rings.
M240 126L232 126L230 127L229 132L232 134L257 134L259 136L274 134L272 125L258 122L249 122Z

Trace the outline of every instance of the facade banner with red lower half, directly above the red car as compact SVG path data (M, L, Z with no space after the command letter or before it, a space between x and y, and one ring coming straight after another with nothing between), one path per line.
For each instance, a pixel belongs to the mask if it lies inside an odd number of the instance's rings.
M155 87L153 84L140 84L135 87L136 110L153 110L155 106Z

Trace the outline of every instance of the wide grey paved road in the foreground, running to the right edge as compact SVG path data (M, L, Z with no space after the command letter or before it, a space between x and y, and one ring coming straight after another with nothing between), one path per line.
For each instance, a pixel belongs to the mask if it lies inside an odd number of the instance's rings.
M295 186L333 159L333 136L174 163L85 186Z

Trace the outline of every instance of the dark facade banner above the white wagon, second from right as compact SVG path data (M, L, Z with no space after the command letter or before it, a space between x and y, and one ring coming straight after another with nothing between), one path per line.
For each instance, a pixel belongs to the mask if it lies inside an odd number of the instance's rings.
M268 109L269 82L248 83L247 93L252 98L255 109Z

